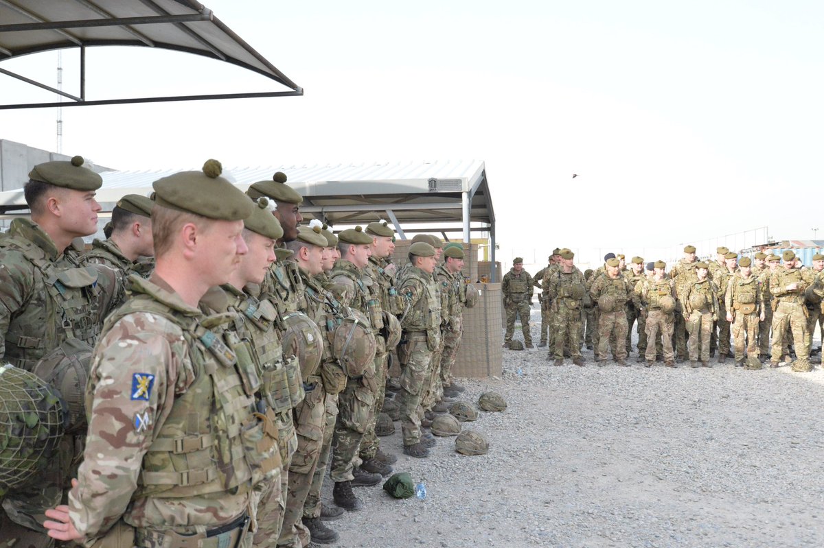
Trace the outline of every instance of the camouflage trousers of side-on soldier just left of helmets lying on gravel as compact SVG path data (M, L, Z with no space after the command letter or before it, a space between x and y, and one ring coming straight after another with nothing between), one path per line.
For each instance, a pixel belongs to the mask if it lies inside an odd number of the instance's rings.
M400 392L396 399L400 406L400 427L404 445L414 445L420 441L420 418L418 408L424 392L424 383L432 366L432 353L425 336L410 336L407 339L406 367L400 374Z

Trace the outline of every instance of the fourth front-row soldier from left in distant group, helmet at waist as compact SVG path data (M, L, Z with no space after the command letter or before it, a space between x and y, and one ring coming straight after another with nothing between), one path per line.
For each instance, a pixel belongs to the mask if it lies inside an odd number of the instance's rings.
M644 357L646 366L652 367L655 361L656 345L661 341L664 365L676 367L675 352L672 351L672 329L675 327L675 300L677 297L675 281L667 277L667 263L656 261L653 265L651 280L644 278L636 282L633 290L635 305L646 316L647 348ZM667 300L672 300L669 309ZM640 353L640 352L639 352Z

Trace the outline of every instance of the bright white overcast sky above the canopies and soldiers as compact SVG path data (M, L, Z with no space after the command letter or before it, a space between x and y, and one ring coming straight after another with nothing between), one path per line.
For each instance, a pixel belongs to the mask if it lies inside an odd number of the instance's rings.
M306 95L67 108L63 153L121 170L484 160L505 267L555 246L705 253L765 226L735 247L824 239L822 2L204 3ZM182 53L87 63L89 100L282 89ZM54 81L56 53L0 66ZM63 66L77 91L77 53ZM3 102L54 100L32 90L0 75ZM54 150L54 121L0 111L0 138Z

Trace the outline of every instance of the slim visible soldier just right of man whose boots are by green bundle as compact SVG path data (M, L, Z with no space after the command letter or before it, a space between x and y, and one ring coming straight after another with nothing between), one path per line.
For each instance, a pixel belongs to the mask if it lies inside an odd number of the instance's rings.
M389 348L386 341L390 338L391 326L400 329L400 323L394 321L397 314L403 310L403 300L395 288L395 265L389 262L395 252L395 231L386 221L369 223L366 227L367 235L372 237L372 255L363 272L368 276L368 290L372 299L380 301L382 327L375 335L377 353L375 354L375 382L377 393L375 403L369 413L369 424L361 441L360 458L363 461L361 468L365 471L389 476L392 473L390 466L397 461L395 455L381 451L381 444L375 434L377 416L383 409L386 397L386 376L389 373L389 356L395 350ZM377 313L377 311L376 311ZM390 318L389 316L392 316ZM400 333L397 333L400 335Z

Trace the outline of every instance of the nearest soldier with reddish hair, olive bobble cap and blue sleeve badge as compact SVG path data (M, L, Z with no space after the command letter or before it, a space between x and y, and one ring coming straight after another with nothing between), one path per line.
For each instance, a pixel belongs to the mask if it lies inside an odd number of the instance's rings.
M59 540L251 544L254 487L276 439L256 412L254 364L226 331L232 315L198 309L247 251L241 220L253 204L219 166L154 183L157 265L149 280L129 279L133 296L107 318L92 356L77 485L45 523Z

